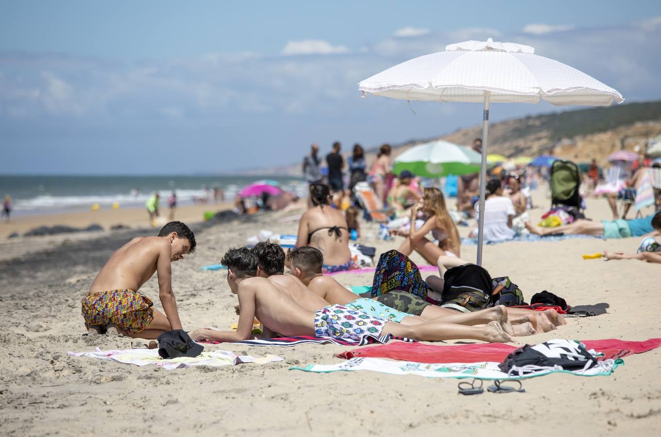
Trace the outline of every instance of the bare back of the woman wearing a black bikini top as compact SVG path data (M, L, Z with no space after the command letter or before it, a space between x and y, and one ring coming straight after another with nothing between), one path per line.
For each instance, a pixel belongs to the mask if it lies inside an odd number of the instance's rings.
M319 249L324 255L324 264L346 264L351 259L351 251L344 215L328 205L308 210L301 217L297 246Z

